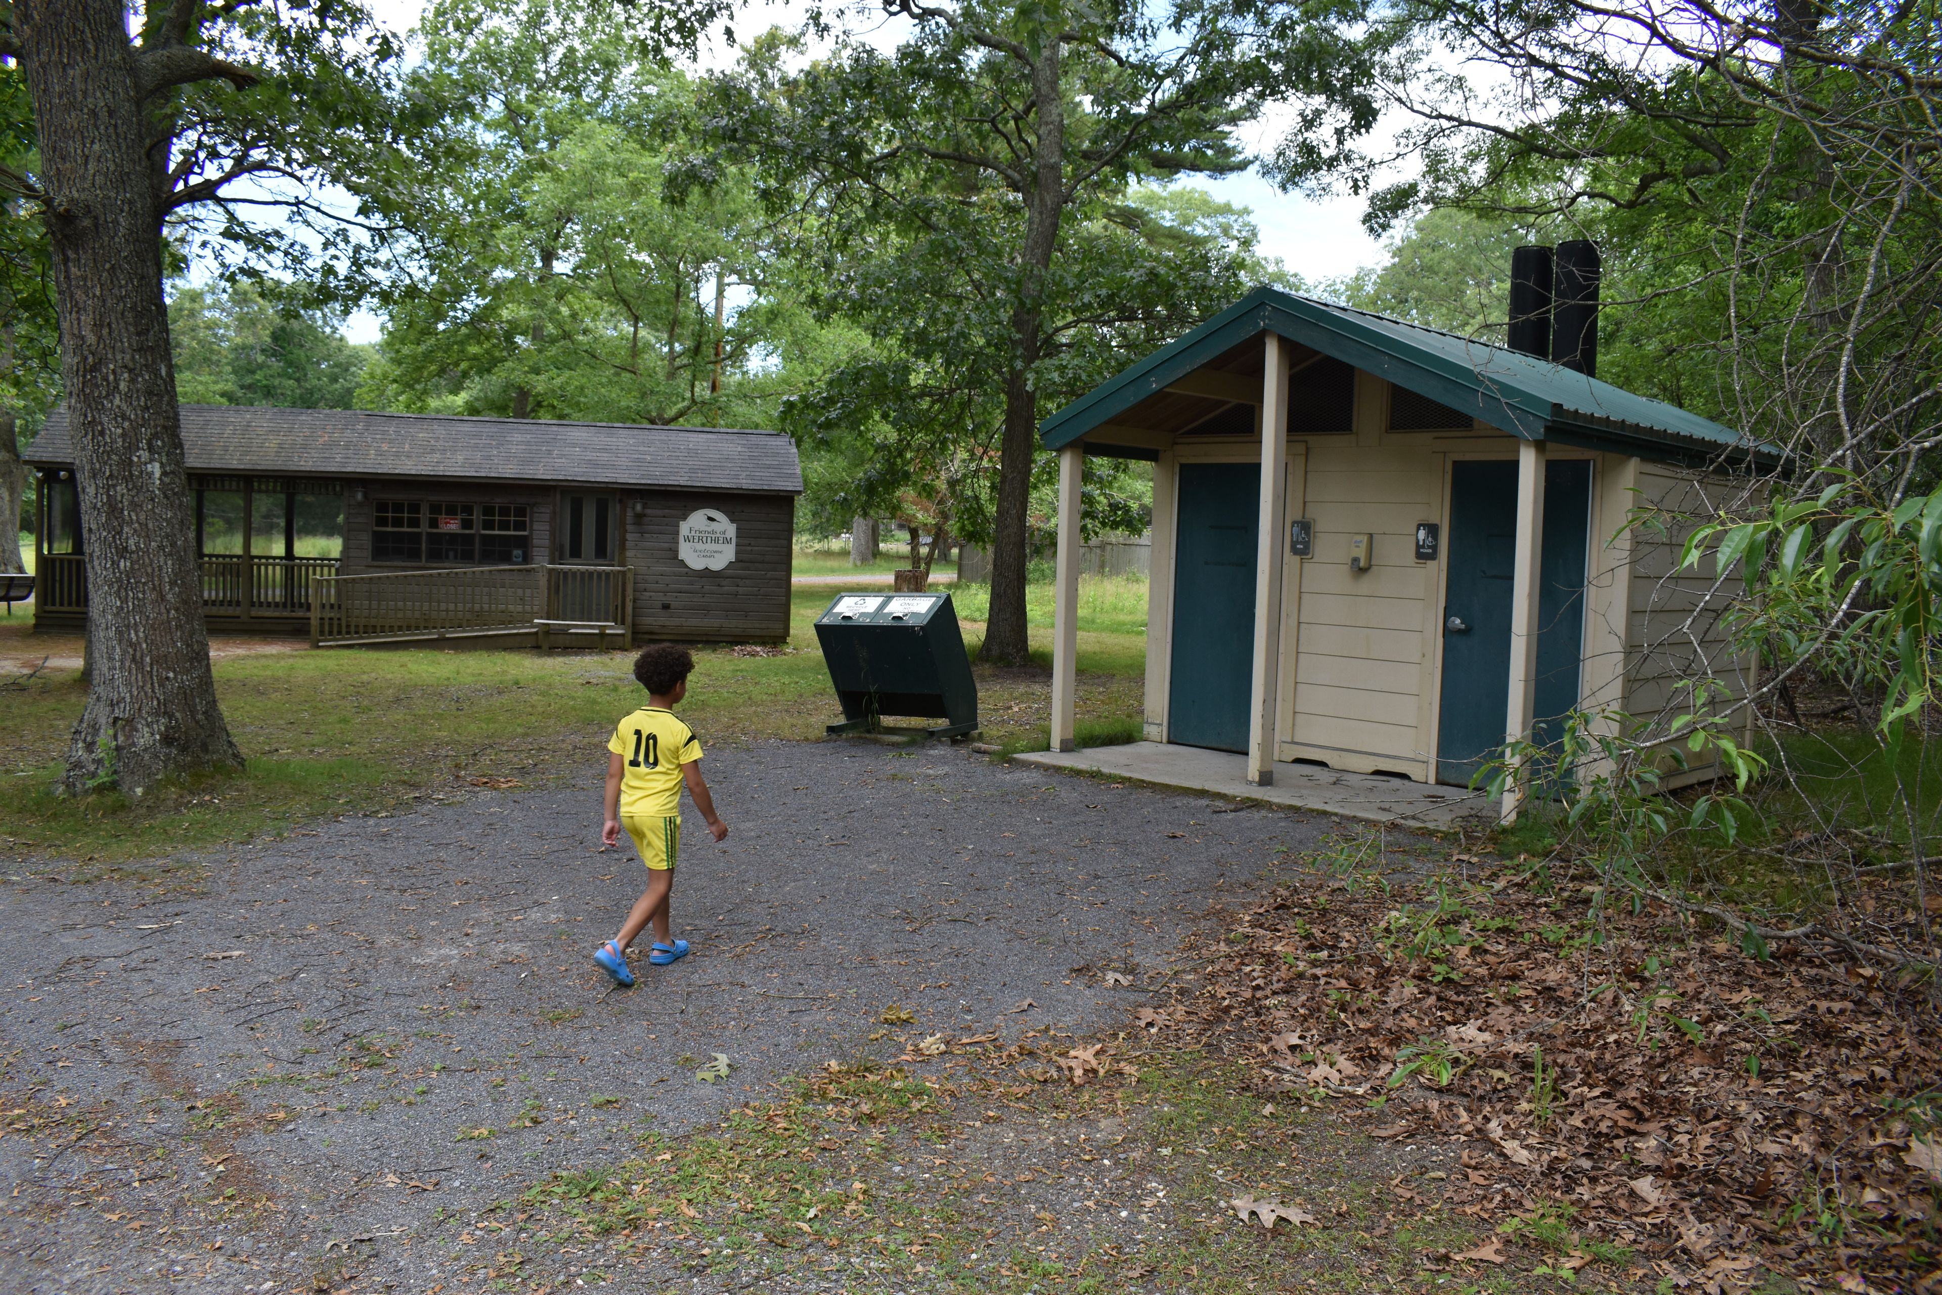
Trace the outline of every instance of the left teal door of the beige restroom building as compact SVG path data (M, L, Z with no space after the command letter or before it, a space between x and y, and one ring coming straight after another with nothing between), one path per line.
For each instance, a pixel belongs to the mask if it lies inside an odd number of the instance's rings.
M1247 749L1260 464L1181 464L1167 740Z

